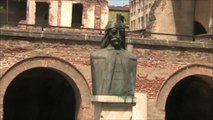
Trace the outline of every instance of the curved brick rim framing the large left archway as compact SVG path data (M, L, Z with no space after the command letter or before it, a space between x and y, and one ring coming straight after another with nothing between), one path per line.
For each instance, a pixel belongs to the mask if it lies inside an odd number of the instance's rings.
M26 70L38 67L56 70L65 76L76 93L76 101L79 106L76 113L77 119L92 119L93 108L89 99L91 92L86 79L74 66L59 58L38 56L16 63L0 78L0 96L4 96L7 87L16 76ZM0 105L3 105L3 97L0 97Z

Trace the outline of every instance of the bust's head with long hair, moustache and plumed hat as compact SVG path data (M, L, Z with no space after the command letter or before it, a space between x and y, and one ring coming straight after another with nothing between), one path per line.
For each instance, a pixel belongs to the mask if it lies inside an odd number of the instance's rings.
M123 21L124 17L121 14L117 14L115 21L108 22L105 35L102 38L101 48L111 45L117 50L126 49L125 25Z

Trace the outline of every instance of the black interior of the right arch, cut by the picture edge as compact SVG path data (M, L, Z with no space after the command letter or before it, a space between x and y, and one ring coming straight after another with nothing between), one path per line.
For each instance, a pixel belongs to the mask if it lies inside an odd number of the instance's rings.
M166 103L166 120L213 120L213 81L190 76L177 83Z

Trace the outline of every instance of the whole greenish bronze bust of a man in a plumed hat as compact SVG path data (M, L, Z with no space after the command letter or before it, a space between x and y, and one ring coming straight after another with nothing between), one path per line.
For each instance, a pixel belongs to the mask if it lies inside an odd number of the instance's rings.
M136 56L126 50L123 16L109 22L101 49L91 54L94 95L133 96L136 79Z

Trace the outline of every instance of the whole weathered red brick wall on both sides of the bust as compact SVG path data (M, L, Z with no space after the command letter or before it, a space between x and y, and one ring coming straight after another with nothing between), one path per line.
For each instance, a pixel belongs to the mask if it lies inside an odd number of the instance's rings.
M148 118L163 119L163 112L157 110L155 102L165 80L188 65L213 66L213 49L144 45L140 44L141 41L134 44L134 52L138 57L136 92L147 93ZM53 56L74 65L91 87L90 53L98 48L99 42L91 41L1 36L0 77L7 69L26 58Z

